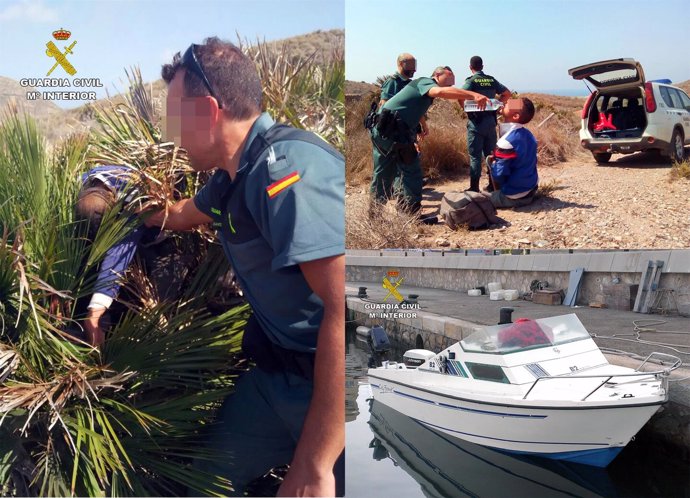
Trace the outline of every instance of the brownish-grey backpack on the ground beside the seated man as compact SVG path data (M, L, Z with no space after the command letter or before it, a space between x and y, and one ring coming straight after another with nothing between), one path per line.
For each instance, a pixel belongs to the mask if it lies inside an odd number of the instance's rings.
M477 192L448 192L441 199L441 216L455 230L466 226L473 229L488 228L501 223L491 199Z

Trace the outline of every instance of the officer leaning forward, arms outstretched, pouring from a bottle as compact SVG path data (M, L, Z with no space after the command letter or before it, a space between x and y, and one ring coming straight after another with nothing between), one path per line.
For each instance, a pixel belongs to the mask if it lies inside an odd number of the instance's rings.
M402 175L404 207L417 213L422 207L422 169L415 147L417 125L435 98L473 99L484 108L488 98L472 91L453 87L455 75L448 66L434 69L431 77L411 81L379 111L378 122L370 130L374 154L374 171L370 192L384 203L393 195L393 180Z

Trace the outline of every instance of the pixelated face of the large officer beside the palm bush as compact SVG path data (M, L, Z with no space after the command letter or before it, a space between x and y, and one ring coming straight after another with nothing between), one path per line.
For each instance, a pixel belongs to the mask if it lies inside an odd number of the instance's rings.
M177 71L168 86L165 137L187 150L195 170L205 171L218 165L214 151L221 114L213 97L184 96L184 74Z

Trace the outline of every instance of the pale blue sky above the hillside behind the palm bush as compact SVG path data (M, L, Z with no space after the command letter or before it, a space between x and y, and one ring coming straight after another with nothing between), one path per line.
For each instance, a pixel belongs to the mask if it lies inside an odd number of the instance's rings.
M208 36L276 40L344 24L343 0L0 0L0 76L45 77L54 63L46 43L60 27L72 32L55 42L60 50L77 41L67 57L74 78L100 78L113 93L113 84L124 88L125 67L139 65L144 80L158 79L175 52ZM51 77L67 74L58 67Z

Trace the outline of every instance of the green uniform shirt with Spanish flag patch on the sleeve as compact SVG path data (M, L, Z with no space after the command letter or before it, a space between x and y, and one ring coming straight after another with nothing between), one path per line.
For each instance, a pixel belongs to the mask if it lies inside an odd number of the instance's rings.
M345 253L345 161L285 140L250 162L254 139L273 124L267 113L256 119L235 178L217 170L194 205L213 219L266 336L285 349L314 352L323 301L299 265Z

